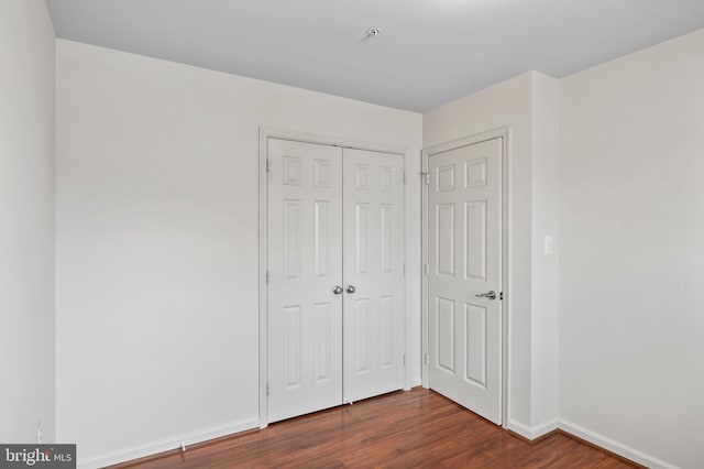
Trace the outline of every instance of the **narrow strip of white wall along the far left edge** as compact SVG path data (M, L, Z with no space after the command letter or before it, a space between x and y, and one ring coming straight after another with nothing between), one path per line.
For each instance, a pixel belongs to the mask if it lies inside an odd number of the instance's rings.
M0 2L0 441L54 440L54 28Z

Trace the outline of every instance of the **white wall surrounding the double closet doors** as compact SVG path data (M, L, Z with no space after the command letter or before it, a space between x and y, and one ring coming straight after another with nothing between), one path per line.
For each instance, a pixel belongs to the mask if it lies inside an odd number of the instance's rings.
M418 155L420 114L74 42L57 54L59 437L96 466L256 426L258 127Z

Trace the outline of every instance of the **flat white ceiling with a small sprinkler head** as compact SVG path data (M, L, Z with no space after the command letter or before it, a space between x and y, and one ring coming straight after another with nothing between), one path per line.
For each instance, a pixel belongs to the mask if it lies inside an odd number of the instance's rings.
M704 28L704 0L46 0L58 37L426 111ZM369 37L367 30L381 34Z

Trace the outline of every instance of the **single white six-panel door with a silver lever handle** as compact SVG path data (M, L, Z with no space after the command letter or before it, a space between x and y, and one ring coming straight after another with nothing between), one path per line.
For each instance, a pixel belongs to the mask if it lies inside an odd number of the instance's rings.
M497 424L502 152L496 138L428 156L428 383Z

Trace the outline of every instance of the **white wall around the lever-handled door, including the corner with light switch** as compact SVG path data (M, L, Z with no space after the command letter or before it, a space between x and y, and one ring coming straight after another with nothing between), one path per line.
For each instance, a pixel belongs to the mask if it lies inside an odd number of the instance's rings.
M426 148L492 129L510 129L507 423L529 438L557 425L557 405L550 405L557 392L557 363L550 361L556 360L550 352L557 347L557 329L550 324L556 315L557 265L534 262L537 252L542 257L542 233L557 225L557 207L550 206L552 189L538 192L534 199L534 185L557 175L557 89L552 78L527 73L424 114ZM534 315L535 310L540 314ZM543 328L535 331L536 327ZM547 341L536 345L534 335ZM549 361L538 363L535 357Z

